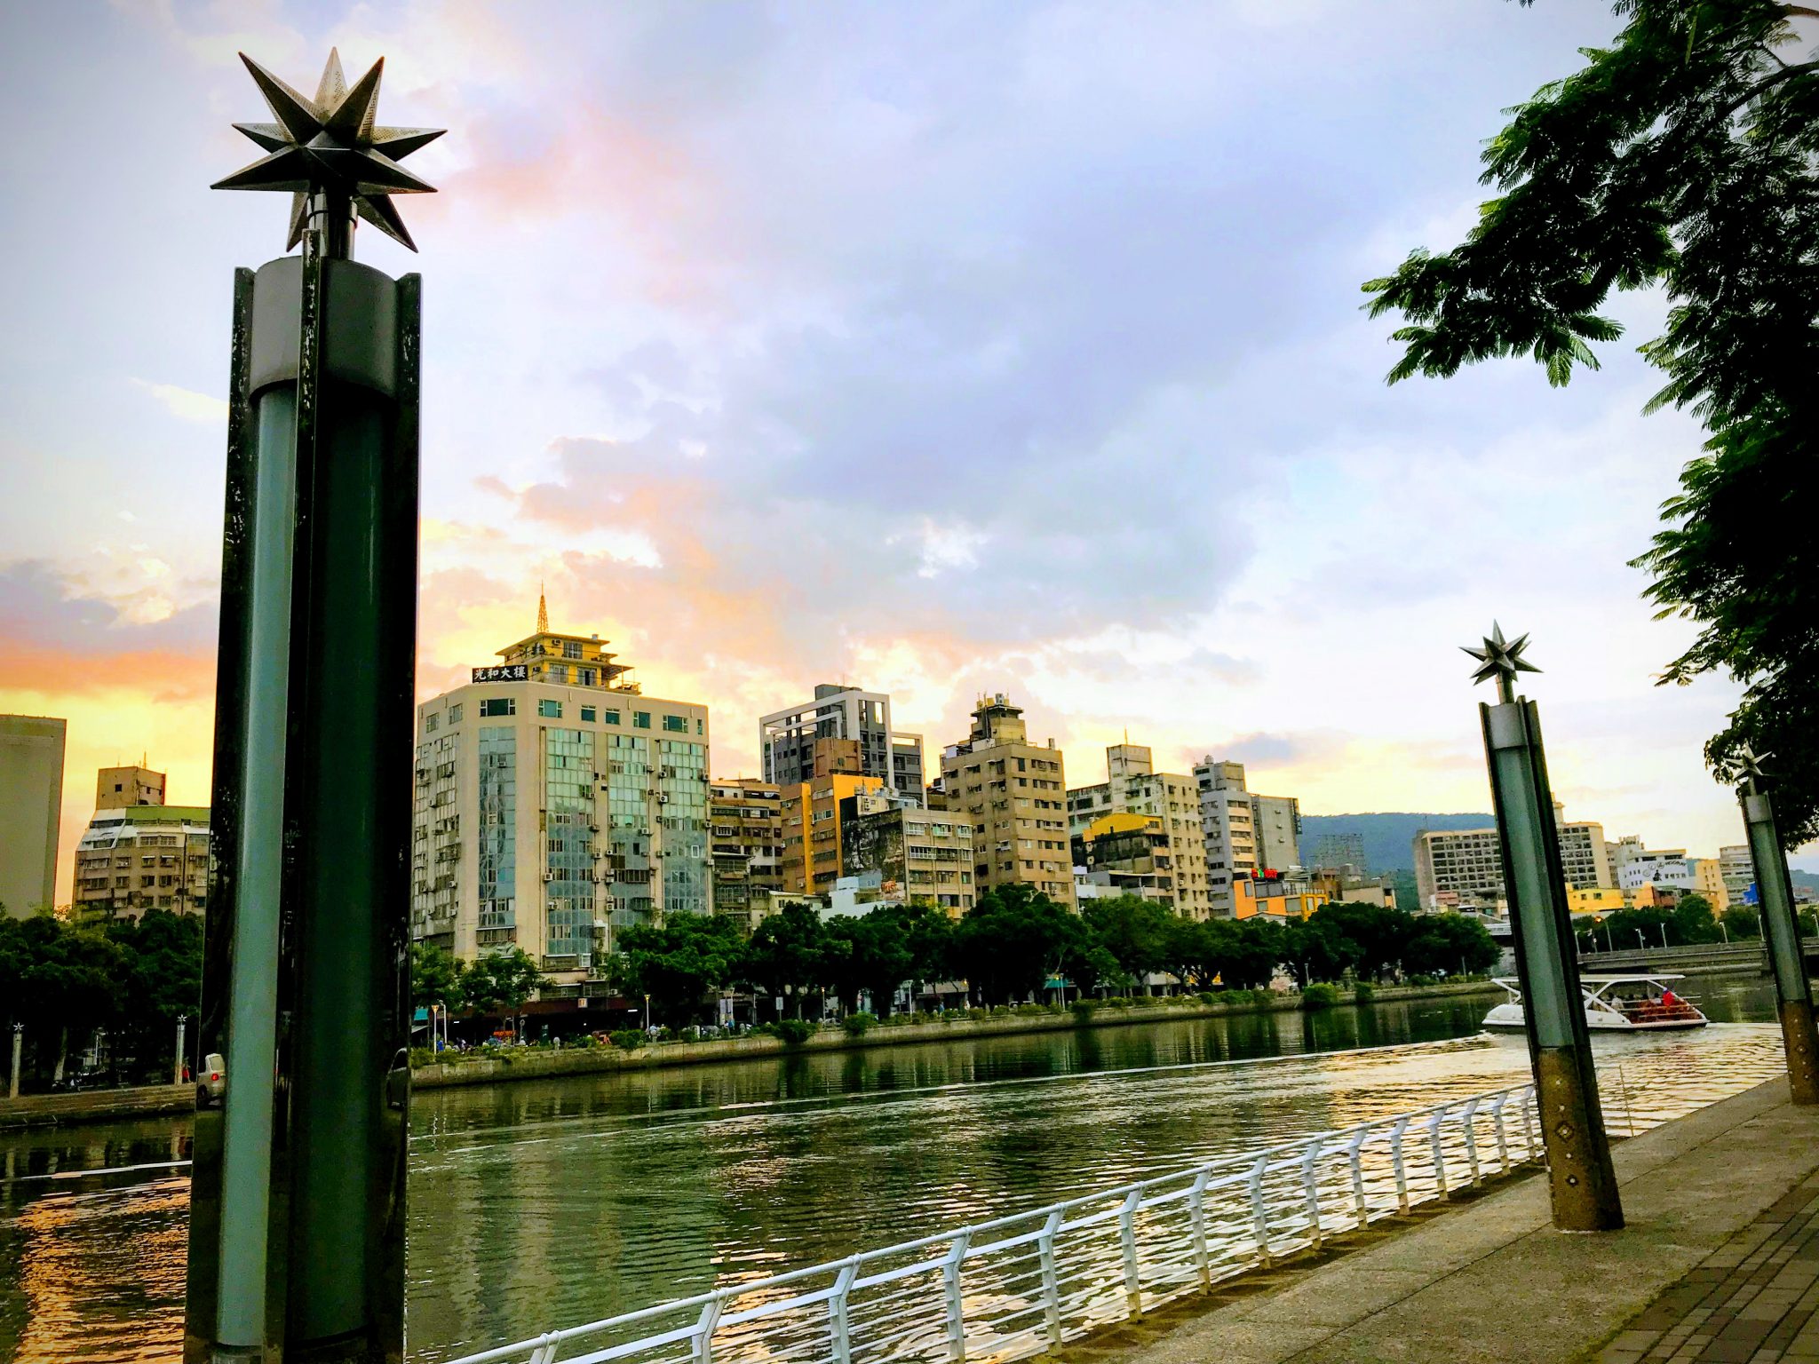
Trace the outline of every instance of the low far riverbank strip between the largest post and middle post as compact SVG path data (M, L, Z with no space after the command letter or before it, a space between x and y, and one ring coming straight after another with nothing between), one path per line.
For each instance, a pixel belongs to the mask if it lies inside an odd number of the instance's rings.
M1372 991L1370 1002L1392 1004L1395 1000L1501 993L1502 988L1488 980L1468 980L1455 986L1381 986ZM773 1060L779 1055L800 1055L811 1051L864 1051L869 1048L968 1042L988 1037L1015 1037L1020 1033L1068 1033L1091 1028L1128 1028L1133 1024L1175 1022L1184 1018L1299 1013L1304 1008L1301 995L1281 995L1271 1000L1246 1000L1244 1004L1202 1004L1199 998L1188 998L1191 1002L1186 1004L1155 998L1151 1002L1131 1002L1126 1008L1095 1008L1086 1018L1080 1018L1071 1011L1035 1015L1013 1013L1000 1018L970 1018L955 1013L940 1022L895 1026L879 1024L857 1037L839 1028L828 1028L793 1046L777 1037L733 1037L711 1042L658 1042L655 1046L638 1048L637 1051L624 1051L620 1048L571 1048L562 1051L524 1048L518 1051L466 1053L460 1060L418 1066L411 1073L411 1084L418 1089L442 1089L464 1084L504 1084L509 1080L544 1080L568 1075L660 1069L666 1066ZM1353 1002L1353 998L1344 995L1339 998L1339 1006Z

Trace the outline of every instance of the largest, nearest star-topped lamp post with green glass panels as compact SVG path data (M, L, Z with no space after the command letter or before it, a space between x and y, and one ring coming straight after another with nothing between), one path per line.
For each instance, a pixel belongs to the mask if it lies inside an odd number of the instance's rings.
M216 189L293 196L287 247L235 273L215 718L215 866L184 1359L404 1357L417 275L353 260L357 222L413 251L382 62L315 98L242 56L276 122Z

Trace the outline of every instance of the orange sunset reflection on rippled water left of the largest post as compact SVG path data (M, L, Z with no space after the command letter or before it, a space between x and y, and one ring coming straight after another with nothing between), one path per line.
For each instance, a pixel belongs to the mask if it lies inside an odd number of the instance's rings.
M18 1222L16 1364L169 1360L182 1351L189 1180L49 1195Z

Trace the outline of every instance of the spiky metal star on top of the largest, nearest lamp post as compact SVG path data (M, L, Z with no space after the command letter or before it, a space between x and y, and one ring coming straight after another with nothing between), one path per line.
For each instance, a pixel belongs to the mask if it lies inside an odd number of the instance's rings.
M391 196L433 195L435 186L417 178L398 162L447 129L375 125L378 80L386 58L373 62L373 69L349 87L342 75L340 53L331 47L313 100L298 95L246 53L240 53L240 60L253 73L258 93L266 96L266 105L278 122L235 124L269 155L226 180L216 180L213 189L287 189L293 198L286 251L304 240L315 211L327 213L337 204L351 204L355 213L386 236L415 251L417 242L406 231ZM326 202L313 207L311 200L317 196Z

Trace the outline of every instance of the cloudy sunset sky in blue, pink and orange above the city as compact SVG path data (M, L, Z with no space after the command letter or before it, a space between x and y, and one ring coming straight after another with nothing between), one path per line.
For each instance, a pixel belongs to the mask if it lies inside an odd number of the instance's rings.
M1712 855L1737 686L1628 567L1697 453L1635 346L1388 387L1361 282L1446 247L1499 111L1608 40L1584 0L7 5L0 711L206 804L231 273L287 198L211 193L386 56L451 129L424 275L418 693L598 633L711 707L717 777L817 682L931 749L1008 691L1104 780L1246 762L1308 813L1486 809L1461 644L1532 631L1555 795ZM409 742L400 737L400 742Z

